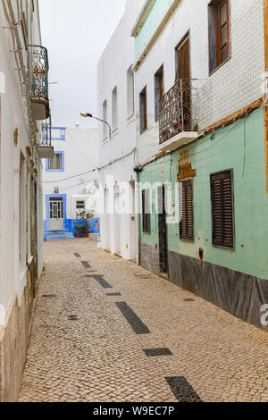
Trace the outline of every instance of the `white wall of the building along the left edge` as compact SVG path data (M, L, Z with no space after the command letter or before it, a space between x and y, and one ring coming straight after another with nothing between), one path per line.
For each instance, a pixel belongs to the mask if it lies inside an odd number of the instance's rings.
M32 39L39 44L41 36L37 22L38 2L35 1L34 3L36 13L32 16L32 22L34 22ZM12 4L15 17L19 20L17 2L12 2ZM21 4L21 6L26 11L26 4ZM31 9L29 13L30 11ZM3 4L0 4L0 74L2 75L2 80L4 80L2 91L0 92L0 326L4 323L4 315L11 304L14 293L18 294L20 303L26 285L26 266L24 266L22 271L20 267L18 233L20 220L20 157L22 154L26 158L26 147L30 147L34 154L29 140L27 119L21 105L22 97L18 73L14 71L18 64L14 59L13 53L10 52L14 49L13 36L11 29L4 29L4 26L10 25L10 15L9 13L6 15L5 12L8 12L7 7L4 10ZM23 53L27 58L25 48ZM15 147L14 130L16 129L18 129L19 136L18 144ZM39 165L41 163L38 161L38 155L36 155L35 162L38 170L38 182L40 182ZM41 209L39 211L41 212ZM41 249L39 251L40 274L43 264Z

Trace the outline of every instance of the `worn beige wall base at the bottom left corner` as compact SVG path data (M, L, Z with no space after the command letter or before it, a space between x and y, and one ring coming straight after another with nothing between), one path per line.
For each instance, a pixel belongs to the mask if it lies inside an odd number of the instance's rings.
M19 397L33 307L29 287L25 287L21 307L14 295L4 326L0 327L0 402L15 402Z

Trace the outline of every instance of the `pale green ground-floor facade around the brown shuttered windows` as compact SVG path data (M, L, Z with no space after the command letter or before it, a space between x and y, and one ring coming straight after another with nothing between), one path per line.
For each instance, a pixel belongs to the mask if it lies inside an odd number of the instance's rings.
M189 150L190 163L197 170L197 177L193 181L195 242L180 240L179 223L174 221L168 224L169 251L198 258L199 248L203 248L204 261L208 263L268 279L268 195L265 193L263 108L142 168L139 182L172 183L172 203L169 208L175 206L180 155L185 150ZM234 182L235 250L214 248L212 244L210 174L229 169L233 170ZM151 234L144 234L140 223L140 242L158 249L155 189L151 205Z

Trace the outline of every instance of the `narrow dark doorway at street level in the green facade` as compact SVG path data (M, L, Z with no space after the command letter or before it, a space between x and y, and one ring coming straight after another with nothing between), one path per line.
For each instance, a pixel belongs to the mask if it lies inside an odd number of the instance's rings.
M165 187L158 187L158 232L160 273L168 273L167 225L165 211Z

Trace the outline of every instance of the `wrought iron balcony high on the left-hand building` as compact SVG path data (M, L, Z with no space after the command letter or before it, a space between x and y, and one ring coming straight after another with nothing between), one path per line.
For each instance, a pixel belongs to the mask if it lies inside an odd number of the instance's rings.
M29 84L35 120L49 117L48 55L44 46L29 46Z

